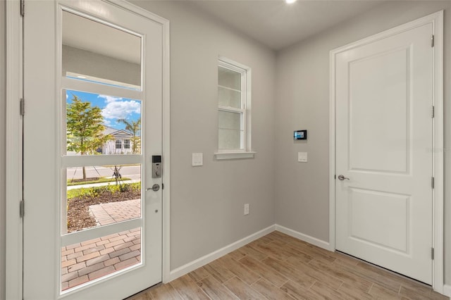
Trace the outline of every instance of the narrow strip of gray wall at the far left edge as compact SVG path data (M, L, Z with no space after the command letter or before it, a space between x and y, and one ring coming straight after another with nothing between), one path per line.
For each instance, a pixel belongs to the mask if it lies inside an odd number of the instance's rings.
M6 1L0 2L0 144L5 144L6 130ZM5 147L0 146L0 299L5 298Z

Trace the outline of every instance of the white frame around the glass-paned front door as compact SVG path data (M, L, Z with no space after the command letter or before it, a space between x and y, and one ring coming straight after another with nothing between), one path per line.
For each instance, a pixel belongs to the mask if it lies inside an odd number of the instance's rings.
M161 24L163 31L163 270L168 282L170 258L170 51L169 21L124 0L103 0ZM26 10L26 9L25 9ZM26 18L26 14L25 14ZM23 299L23 223L22 199L22 116L19 100L23 96L23 18L20 2L6 1L6 299ZM26 106L25 106L26 109ZM26 213L26 212L25 212ZM26 218L26 217L25 217ZM140 292L140 291L136 291Z

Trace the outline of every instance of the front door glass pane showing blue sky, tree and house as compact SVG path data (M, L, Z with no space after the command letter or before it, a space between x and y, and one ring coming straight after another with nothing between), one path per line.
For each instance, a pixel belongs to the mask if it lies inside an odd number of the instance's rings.
M66 90L66 155L140 154L141 101Z

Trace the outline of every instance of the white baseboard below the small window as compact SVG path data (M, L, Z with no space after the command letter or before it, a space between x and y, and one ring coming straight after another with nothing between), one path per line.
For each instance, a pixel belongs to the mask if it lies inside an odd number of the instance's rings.
M259 232L255 232L252 235L249 235L243 239L240 239L237 242L234 242L232 244L229 244L228 246L225 246L221 249L218 249L214 252L211 252L211 254L207 254L206 256L202 256L201 258L197 258L195 261L192 261L190 263L187 263L185 265L182 265L179 268L176 268L174 270L171 270L171 273L169 274L169 277L167 278L166 282L171 282L172 280L175 280L176 278L183 276L187 273L190 273L193 270L196 270L197 268L202 267L202 265L206 265L207 263L211 263L211 261L214 261L217 258L220 258L221 256L224 256L242 246L245 246L245 244L249 244L250 242L254 241L255 239L259 239L260 237L264 237L265 235L268 235L268 233L273 232L276 230L276 225L271 225L264 230L260 230Z

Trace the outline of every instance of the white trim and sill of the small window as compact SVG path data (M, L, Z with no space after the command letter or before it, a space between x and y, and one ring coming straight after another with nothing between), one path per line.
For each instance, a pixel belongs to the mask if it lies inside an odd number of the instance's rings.
M251 146L251 91L252 91L252 69L247 65L243 65L242 63L237 63L229 58L219 56L218 57L218 66L223 68L228 68L230 70L234 70L238 73L244 73L245 76L242 76L242 87L245 90L242 93L242 108L230 108L226 106L218 106L218 111L232 111L232 112L240 112L242 113L242 145L243 149L241 150L219 150L214 154L217 160L223 159L240 159L240 158L254 158L255 151L252 151ZM244 72L243 72L244 71Z

